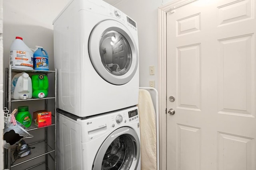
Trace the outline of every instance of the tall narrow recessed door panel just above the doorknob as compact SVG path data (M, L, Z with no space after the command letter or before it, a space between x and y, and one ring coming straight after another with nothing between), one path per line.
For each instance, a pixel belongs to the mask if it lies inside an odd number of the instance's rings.
M178 107L201 108L200 44L177 48Z

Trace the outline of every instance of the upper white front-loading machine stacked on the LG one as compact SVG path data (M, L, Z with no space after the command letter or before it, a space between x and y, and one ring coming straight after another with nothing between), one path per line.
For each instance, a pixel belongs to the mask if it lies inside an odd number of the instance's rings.
M72 0L53 25L58 108L87 117L138 104L134 20L102 0Z

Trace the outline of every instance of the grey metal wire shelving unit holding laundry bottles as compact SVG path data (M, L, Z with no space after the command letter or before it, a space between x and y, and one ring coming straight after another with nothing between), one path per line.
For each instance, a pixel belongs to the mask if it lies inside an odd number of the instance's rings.
M30 73L30 74L48 74L48 73L54 73L54 82L52 82L51 85L54 85L54 94L51 93L51 95L47 98L32 98L32 99L27 99L27 100L12 100L11 99L11 80L12 80L12 73L19 73L19 72L26 72L26 73ZM9 68L6 68L6 90L8 91L8 93L6 93L6 106L8 107L9 110L12 110L12 102L28 102L30 103L30 101L39 101L42 100L45 102L45 109L47 109L48 107L48 103L49 102L54 102L54 110L52 111L52 125L49 126L45 126L45 127L40 127L38 128L34 122L31 123L31 126L29 128L23 127L26 131L33 131L36 129L42 129L44 128L45 131L45 138L43 141L39 141L33 144L30 144L30 147L35 147L35 149L31 149L31 153L28 156L25 156L24 158L18 158L15 162L14 162L14 150L12 150L11 148L9 149L5 149L5 154L6 154L6 158L5 158L5 166L6 169L11 169L12 167L17 168L17 165L23 164L25 162L28 161L33 161L35 158L41 158L41 156L44 156L46 161L42 162L40 164L37 164L35 166L32 166L30 168L27 168L26 170L49 170L49 168L52 169L52 167L49 167L48 161L47 161L47 157L50 156L53 160L54 160L54 167L56 169L56 94L57 94L57 69L55 69L54 71L50 71L50 70L27 70L27 69L16 69L16 68L12 68L11 65L9 65ZM49 101L48 101L49 100ZM54 147L53 149L47 144L48 141L48 128L47 127L53 127L54 128ZM52 140L52 138L51 138ZM52 154L49 153L53 153L54 156L52 156ZM12 162L14 162L12 164ZM48 167L47 167L48 166Z

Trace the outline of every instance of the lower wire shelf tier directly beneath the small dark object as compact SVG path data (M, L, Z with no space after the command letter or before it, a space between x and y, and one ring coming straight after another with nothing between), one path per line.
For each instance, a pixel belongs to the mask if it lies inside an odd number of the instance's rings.
M14 167L14 166L17 166L19 164L22 164L24 162L28 162L30 160L33 160L35 158L38 158L40 156L44 156L46 154L49 154L51 152L54 152L55 150L52 149L49 145L47 145L45 143L45 141L41 141L41 142L38 142L38 143L34 143L32 145L29 145L30 147L35 147L35 149L31 149L31 154L28 155L28 156L25 156L24 158L18 158L14 164L11 166ZM14 150L11 151L11 158L12 160L14 161L14 156L13 156L13 153L14 153Z

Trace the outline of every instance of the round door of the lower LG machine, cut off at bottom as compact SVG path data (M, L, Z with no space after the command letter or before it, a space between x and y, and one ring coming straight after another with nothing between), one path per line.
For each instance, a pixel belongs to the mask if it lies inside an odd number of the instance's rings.
M130 127L121 127L102 143L92 170L137 169L139 160L140 141L137 133Z

